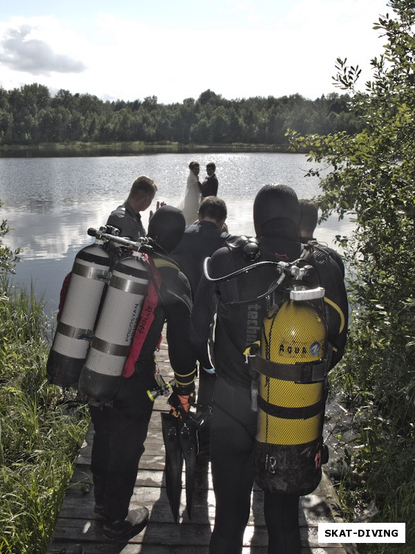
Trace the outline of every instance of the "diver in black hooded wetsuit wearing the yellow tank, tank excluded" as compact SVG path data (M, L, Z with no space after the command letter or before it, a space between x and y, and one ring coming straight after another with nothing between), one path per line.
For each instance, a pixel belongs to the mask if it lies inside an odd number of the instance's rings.
M259 249L246 238L230 239L208 264L212 278L254 264L257 260L293 261L303 250L298 238L299 206L293 189L268 185L257 194L254 223ZM321 254L321 253L320 253ZM317 253L317 258L319 253ZM335 345L333 367L342 357L347 334L347 296L338 265L324 256L316 261L326 296L340 311L330 310L329 341ZM243 355L247 346L261 338L266 299L258 298L275 280L270 267L258 267L221 283L203 277L196 292L191 317L192 341L203 366L216 368L214 409L210 435L212 477L216 497L210 554L240 554L250 513L254 481L254 446L257 413L251 409L251 376ZM252 301L251 301L252 299ZM235 301L248 302L235 304ZM343 330L339 319L343 316ZM207 353L210 323L217 314L214 346ZM268 554L300 551L299 494L264 491L268 529Z

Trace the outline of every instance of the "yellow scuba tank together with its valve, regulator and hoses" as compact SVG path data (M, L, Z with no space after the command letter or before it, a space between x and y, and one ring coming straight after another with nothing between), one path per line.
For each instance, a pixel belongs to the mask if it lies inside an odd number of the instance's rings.
M259 245L255 247L255 240L245 237L233 240L229 247L242 251L252 265L211 278L205 260L208 280L226 281L267 266L274 267L277 274L275 280L267 278L270 285L264 294L223 301L229 306L256 303L262 298L267 302L266 316L260 323L261 338L243 352L252 377L252 410L258 414L255 481L270 492L309 494L320 483L322 463L328 461L328 450L322 444L331 355L325 290L304 284L304 278L314 277L306 258L289 263L257 261Z

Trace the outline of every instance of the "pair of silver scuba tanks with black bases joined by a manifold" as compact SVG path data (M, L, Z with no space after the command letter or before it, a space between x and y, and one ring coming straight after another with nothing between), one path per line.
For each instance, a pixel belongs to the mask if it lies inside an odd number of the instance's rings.
M142 303L149 269L132 242L89 229L95 242L77 253L46 366L50 383L78 388L90 402L111 404L118 391ZM110 271L106 243L132 249Z

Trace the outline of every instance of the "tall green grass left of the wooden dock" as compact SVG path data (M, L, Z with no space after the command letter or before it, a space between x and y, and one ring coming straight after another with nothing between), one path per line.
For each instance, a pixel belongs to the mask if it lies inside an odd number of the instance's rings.
M0 284L1 554L46 551L88 425L46 380L47 325L33 291Z

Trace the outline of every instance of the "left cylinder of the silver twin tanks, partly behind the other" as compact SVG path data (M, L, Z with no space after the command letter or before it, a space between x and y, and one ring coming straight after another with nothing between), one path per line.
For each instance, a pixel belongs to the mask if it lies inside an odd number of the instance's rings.
M102 238L96 238L75 256L62 315L46 364L50 383L77 386L105 283L109 280L109 266Z

